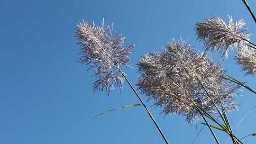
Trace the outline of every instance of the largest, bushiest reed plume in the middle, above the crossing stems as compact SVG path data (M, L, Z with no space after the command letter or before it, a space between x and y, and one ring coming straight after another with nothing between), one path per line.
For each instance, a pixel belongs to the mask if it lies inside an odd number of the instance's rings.
M228 111L237 109L234 99L239 86L224 78L226 70L221 64L214 64L204 53L197 54L183 40L173 41L165 47L167 49L161 52L146 54L137 64L138 89L148 100L153 99L155 106L164 107L162 113L185 116L192 124L200 118L192 101L205 112L216 113L198 79L216 104L223 102Z

